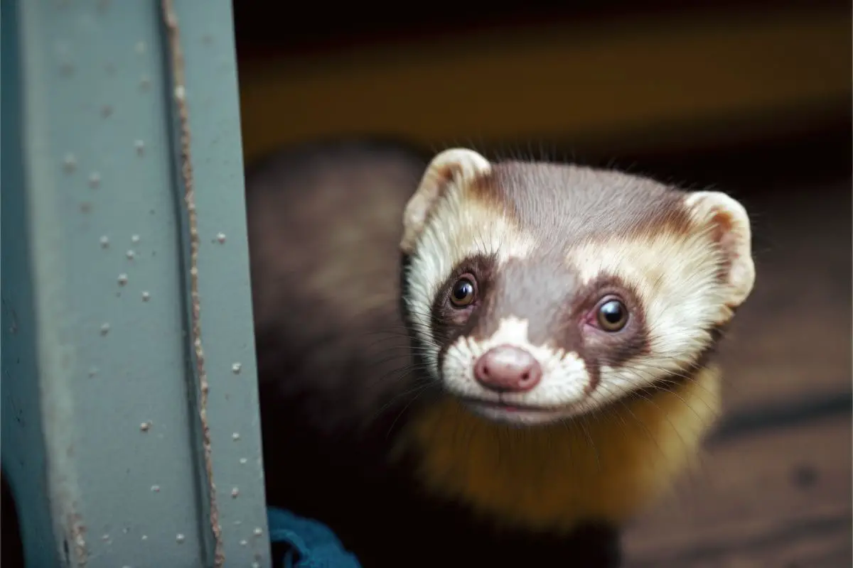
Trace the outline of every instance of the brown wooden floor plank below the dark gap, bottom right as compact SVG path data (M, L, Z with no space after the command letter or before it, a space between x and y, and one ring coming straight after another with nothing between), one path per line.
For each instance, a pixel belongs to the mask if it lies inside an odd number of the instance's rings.
M708 452L625 538L628 567L848 566L850 415Z

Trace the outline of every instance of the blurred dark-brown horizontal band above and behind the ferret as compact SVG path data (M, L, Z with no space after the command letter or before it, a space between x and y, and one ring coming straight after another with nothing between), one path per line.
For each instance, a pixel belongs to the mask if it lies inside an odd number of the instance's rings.
M282 38L264 55L243 32L244 152L373 133L436 147L532 138L670 152L849 112L850 7L758 4L434 26L339 50Z

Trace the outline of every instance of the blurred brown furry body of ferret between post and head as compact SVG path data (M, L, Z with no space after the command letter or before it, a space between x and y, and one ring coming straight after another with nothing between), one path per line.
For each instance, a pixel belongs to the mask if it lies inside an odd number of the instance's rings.
M306 146L249 174L261 387L282 396L310 389L312 427L363 426L401 389L391 380L366 387L348 381L347 371L368 353L407 351L397 242L403 205L425 166L415 152L360 142ZM310 385L283 380L278 371L294 364ZM403 366L401 359L369 364L375 376Z

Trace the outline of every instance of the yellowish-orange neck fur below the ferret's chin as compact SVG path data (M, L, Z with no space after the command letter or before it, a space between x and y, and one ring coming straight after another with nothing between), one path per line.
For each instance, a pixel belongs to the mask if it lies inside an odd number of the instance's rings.
M543 427L498 425L444 399L409 423L398 449L415 450L417 474L438 496L498 524L571 531L585 520L621 524L670 487L698 456L719 405L715 368Z

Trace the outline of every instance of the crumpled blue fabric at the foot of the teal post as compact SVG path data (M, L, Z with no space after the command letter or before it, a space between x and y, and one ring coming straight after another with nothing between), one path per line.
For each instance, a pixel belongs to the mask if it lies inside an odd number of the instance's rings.
M270 540L284 543L284 568L361 568L356 557L344 548L328 526L290 511L267 508Z

